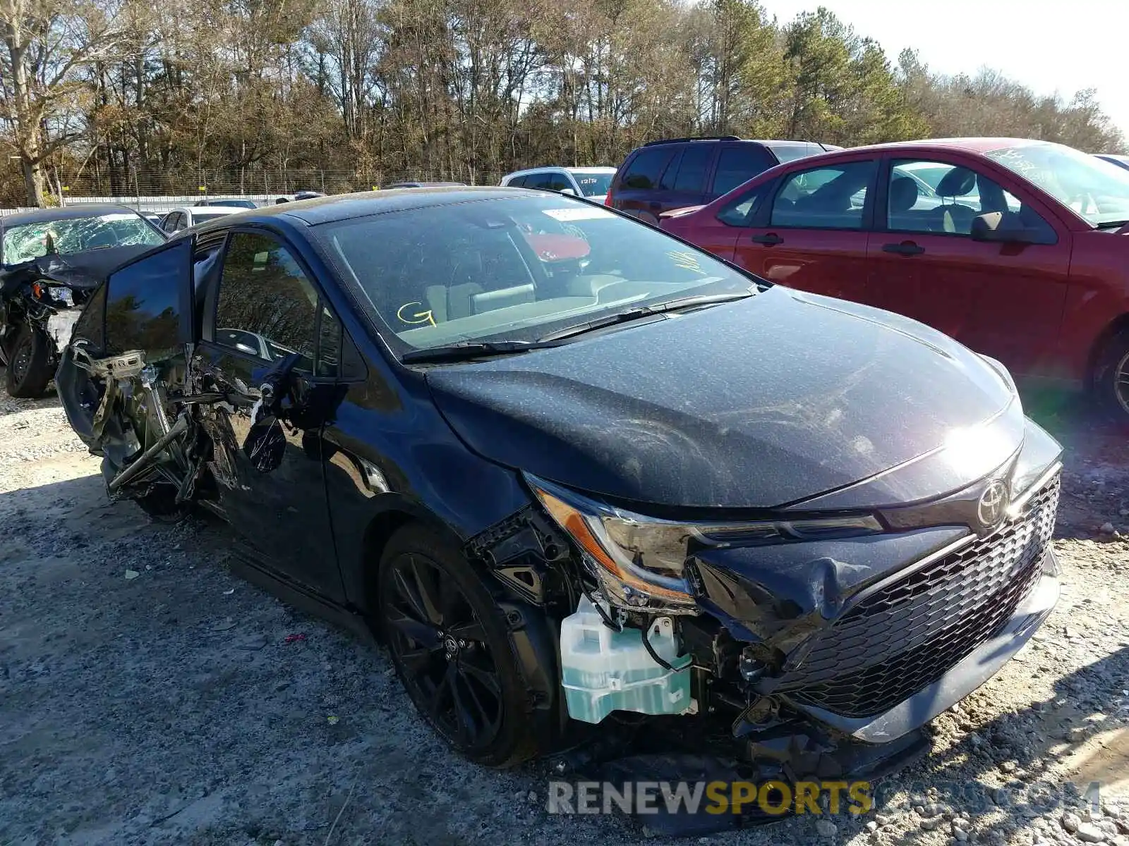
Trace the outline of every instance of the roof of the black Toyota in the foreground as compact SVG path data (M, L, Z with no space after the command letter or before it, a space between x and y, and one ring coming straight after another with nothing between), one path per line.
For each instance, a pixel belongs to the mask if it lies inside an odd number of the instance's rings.
M430 206L469 203L476 200L528 200L531 193L525 188L505 187L430 187L430 188L384 188L382 191L362 191L355 194L334 194L313 200L299 200L294 203L280 203L263 209L239 209L240 223L266 223L282 219L290 223L317 226L338 220L364 218L370 214L427 209ZM568 201L566 201L568 202ZM580 201L576 201L580 202ZM226 224L225 215L202 223L199 231L220 229Z

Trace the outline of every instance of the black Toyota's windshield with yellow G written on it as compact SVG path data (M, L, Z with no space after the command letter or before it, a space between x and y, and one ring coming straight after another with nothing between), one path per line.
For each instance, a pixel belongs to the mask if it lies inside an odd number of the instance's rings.
M536 341L639 306L756 290L706 253L567 196L430 206L314 231L401 354L464 341Z

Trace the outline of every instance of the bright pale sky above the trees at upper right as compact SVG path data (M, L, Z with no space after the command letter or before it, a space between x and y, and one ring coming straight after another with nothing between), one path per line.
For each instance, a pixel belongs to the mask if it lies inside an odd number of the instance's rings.
M787 24L825 6L882 44L891 62L903 47L929 70L994 68L1035 94L1069 99L1093 88L1129 138L1129 0L761 0Z

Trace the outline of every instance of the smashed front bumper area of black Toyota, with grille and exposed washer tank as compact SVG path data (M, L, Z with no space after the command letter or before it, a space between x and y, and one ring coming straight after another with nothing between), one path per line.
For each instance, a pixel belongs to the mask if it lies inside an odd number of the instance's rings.
M647 715L665 748L708 735L765 778L885 769L921 751L925 724L998 672L1054 608L1061 465L1057 444L1036 435L998 472L1015 495L991 526L970 519L990 478L883 510L877 532L745 523L749 543L691 547L682 578L644 596L680 526L618 510L578 518L583 497L569 511L562 494L483 532L467 554L524 601L567 609L552 615L559 649L544 660L559 668L574 721Z

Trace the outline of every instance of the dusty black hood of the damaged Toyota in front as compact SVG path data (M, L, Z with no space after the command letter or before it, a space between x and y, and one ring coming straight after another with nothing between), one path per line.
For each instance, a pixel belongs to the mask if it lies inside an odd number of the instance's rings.
M479 453L666 510L839 488L859 493L838 508L930 496L991 472L1023 437L1014 388L984 359L914 320L780 285L427 381ZM921 473L951 443L961 460ZM869 478L883 484L850 487Z

